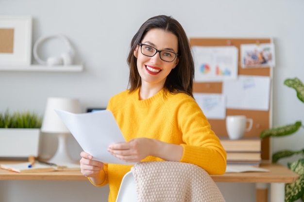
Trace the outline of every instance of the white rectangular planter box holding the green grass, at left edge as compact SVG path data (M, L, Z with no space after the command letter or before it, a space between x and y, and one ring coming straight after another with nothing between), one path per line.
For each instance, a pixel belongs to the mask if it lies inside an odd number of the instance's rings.
M0 157L38 156L39 128L0 128Z

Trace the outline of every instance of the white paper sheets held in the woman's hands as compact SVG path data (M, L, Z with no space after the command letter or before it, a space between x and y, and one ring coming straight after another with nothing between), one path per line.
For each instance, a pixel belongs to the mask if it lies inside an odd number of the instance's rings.
M93 160L113 164L135 164L119 160L107 151L110 144L126 141L110 110L78 114L58 109L55 111L84 152L93 156Z

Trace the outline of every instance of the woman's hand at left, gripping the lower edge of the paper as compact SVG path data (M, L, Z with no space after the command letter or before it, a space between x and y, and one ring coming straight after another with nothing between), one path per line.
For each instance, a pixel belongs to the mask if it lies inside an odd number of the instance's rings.
M79 161L81 173L85 177L90 177L95 184L101 184L103 181L101 180L101 171L104 164L100 161L92 160L93 156L85 152L81 152L80 156L82 157Z

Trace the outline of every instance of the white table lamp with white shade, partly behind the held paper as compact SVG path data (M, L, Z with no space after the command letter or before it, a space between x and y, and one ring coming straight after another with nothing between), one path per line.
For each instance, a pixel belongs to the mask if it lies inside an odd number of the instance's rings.
M49 97L41 126L41 132L58 135L58 148L49 162L56 164L74 163L75 161L70 157L67 148L67 138L70 131L54 109L80 113L79 101L78 99Z

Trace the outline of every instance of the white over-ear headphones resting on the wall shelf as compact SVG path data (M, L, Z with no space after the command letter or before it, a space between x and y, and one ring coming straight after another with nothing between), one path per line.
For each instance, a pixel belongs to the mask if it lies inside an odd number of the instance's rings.
M47 59L47 61L43 61L39 58L39 56L37 54L37 49L38 49L38 46L42 42L44 42L50 38L60 38L67 45L68 52L62 53L60 57L50 57ZM74 55L75 51L74 51L73 47L70 45L67 37L65 37L62 34L57 34L57 35L49 35L49 36L39 38L34 44L33 52L34 52L34 58L37 62L39 62L40 64L52 66L52 65L70 65L70 64L72 64L73 55Z

